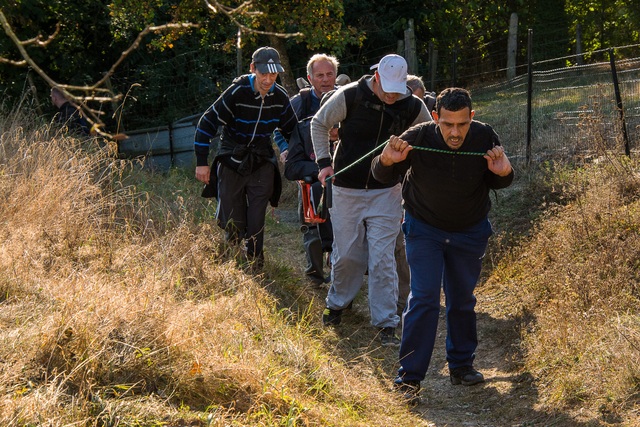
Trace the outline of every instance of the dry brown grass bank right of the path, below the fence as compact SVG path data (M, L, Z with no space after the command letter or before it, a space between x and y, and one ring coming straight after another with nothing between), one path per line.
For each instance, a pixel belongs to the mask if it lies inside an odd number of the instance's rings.
M640 165L608 151L597 119L586 119L581 132L591 149L580 150L578 163L553 165L528 186L546 191L538 194L544 214L493 269L485 292L501 295L502 315L523 325L524 368L542 408L586 410L633 426L640 408Z

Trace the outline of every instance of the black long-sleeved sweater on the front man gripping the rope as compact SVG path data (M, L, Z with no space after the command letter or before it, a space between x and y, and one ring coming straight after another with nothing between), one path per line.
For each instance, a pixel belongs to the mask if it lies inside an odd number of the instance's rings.
M373 176L383 182L404 175L404 208L413 217L445 231L461 231L482 220L489 213L490 189L508 187L513 171L501 177L491 172L480 155L500 145L498 135L484 123L471 122L469 133L459 150L451 150L435 122L422 123L407 130L401 138L414 147L430 147L444 152L413 149L407 159L383 166L380 156L372 162Z

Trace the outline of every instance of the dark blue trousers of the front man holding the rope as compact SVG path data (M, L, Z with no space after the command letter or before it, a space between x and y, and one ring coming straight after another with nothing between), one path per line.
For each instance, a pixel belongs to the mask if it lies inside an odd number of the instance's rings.
M464 231L447 232L405 212L402 229L411 269L411 294L403 317L400 369L404 381L422 381L429 368L445 295L449 369L472 366L478 345L473 294L491 236L483 219Z

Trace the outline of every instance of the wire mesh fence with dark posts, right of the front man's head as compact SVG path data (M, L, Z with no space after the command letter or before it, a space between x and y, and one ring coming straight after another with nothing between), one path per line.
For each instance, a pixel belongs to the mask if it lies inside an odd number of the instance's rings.
M624 49L616 48L616 56L624 57ZM547 62L533 63L530 75L471 89L474 119L493 126L511 159L535 163L637 149L640 58L544 69Z

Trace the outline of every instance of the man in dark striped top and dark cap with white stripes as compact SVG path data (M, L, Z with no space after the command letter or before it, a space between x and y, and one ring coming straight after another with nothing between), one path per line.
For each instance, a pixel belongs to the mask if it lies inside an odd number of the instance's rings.
M261 47L252 56L251 74L237 77L204 112L195 133L196 179L218 198L218 225L227 240L246 239L250 262L262 266L266 209L278 205L282 182L271 143L275 129L289 138L298 119L286 90L276 83L284 71L280 55ZM211 139L222 127L220 149L208 165Z

